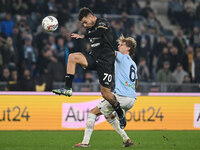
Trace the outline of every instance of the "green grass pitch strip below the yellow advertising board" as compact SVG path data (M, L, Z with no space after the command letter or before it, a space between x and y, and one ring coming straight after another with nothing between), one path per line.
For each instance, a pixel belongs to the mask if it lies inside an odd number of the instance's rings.
M127 131L134 146L123 148L115 131L94 131L90 148L72 148L84 131L0 131L0 150L200 150L200 131Z

